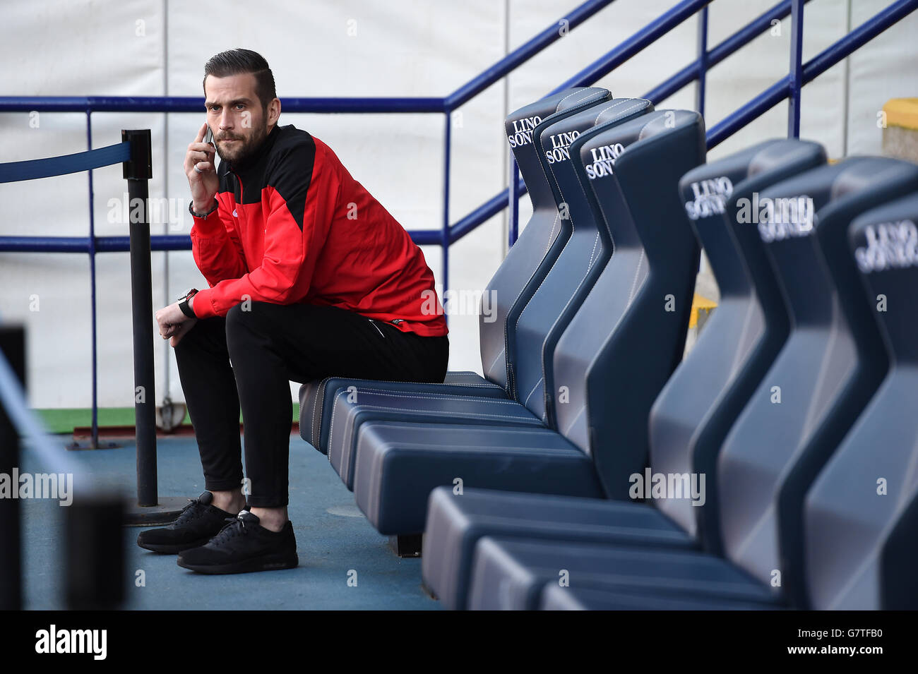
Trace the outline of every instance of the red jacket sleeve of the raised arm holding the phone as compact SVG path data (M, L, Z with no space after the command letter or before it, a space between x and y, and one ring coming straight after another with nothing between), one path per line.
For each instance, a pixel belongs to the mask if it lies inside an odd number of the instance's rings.
M218 209L213 215L196 217L191 227L191 254L207 283L217 285L224 279L238 279L246 271L242 242L233 227L226 197L217 197Z

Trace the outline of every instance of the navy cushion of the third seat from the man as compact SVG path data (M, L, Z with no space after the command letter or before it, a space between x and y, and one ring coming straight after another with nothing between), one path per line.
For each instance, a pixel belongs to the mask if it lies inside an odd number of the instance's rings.
M449 485L603 496L592 461L542 426L369 422L357 434L354 495L386 535L420 534L431 490Z

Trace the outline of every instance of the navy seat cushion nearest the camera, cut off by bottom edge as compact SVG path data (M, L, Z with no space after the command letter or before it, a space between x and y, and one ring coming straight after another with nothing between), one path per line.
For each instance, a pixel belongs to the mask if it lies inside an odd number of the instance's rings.
M596 588L563 588L550 583L542 591L540 611L771 611L775 604L686 597L657 597Z

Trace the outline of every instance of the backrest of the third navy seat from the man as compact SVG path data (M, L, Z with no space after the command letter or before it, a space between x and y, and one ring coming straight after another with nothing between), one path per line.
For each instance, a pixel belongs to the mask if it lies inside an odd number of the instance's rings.
M597 164L618 145L614 165ZM704 161L704 120L657 110L603 130L579 154L615 250L554 349L554 408L560 432L596 461L607 494L627 498L628 475L646 460L651 403L689 324L699 248L677 186Z

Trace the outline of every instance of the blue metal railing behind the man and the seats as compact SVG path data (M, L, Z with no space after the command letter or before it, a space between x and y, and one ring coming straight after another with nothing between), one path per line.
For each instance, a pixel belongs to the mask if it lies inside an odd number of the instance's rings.
M509 188L488 199L472 212L460 218L453 225L449 222L450 204L450 139L451 115L460 105L465 104L476 94L498 82L509 72L531 59L557 39L564 37L567 30L594 16L599 10L609 6L614 0L588 0L578 6L552 26L545 28L520 48L511 52L486 71L479 73L453 94L442 98L285 98L286 112L295 113L440 113L444 115L443 133L443 208L442 225L439 230L420 230L409 232L414 241L420 245L439 245L442 247L442 290L448 288L449 247L463 238L473 229L497 215L509 206L509 243L512 245L518 234L519 197L525 193L516 162L510 160ZM848 56L868 40L890 28L902 17L918 8L918 0L898 0L878 15L868 19L864 24L852 30L844 38L836 41L831 47L823 50L818 56L806 63L802 62L802 17L803 6L808 0L783 0L776 6L732 36L724 39L713 49L707 49L708 41L708 5L712 0L682 0L667 10L633 36L625 39L620 45L610 50L599 60L561 83L551 93L556 93L571 86L586 86L596 83L601 77L613 71L619 65L644 50L655 40L666 35L670 30L682 24L689 17L699 15L698 52L694 61L674 74L666 82L644 94L644 98L658 104L668 96L677 93L689 83L697 83L696 105L702 112L705 104L707 72L732 55L735 51L761 35L772 22L791 16L790 68L789 74L765 92L735 110L708 131L709 149L729 138L737 130L761 116L774 105L789 99L789 135L797 136L800 132L800 89L819 74ZM559 29L559 27L564 29ZM86 115L87 145L91 147L91 115L93 112L200 112L202 101L198 97L0 97L0 112L13 111L46 111L46 112L84 112ZM78 237L0 237L0 252L87 252L91 260L91 292L93 295L93 426L96 419L95 395L95 253L126 251L129 249L127 237L95 237L92 220L92 171L89 171L90 185L90 235ZM153 250L187 250L191 248L188 236L155 236L151 237ZM94 432L95 440L95 432Z

